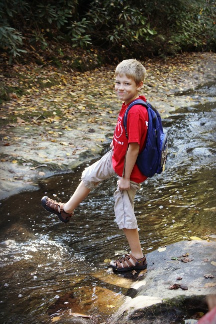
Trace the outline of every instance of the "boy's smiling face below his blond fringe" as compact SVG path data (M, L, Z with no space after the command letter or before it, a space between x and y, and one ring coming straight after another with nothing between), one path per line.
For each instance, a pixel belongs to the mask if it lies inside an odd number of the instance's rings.
M116 76L115 92L117 97L126 105L138 97L138 92L142 86L143 82L137 85L133 79L129 79L125 74Z

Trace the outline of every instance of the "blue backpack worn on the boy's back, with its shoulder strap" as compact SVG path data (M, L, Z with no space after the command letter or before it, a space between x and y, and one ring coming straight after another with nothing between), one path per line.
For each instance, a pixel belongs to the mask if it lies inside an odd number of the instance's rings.
M124 115L123 124L127 138L127 116L134 105L142 105L148 111L149 123L146 146L138 155L136 163L144 175L152 177L155 173L160 174L165 169L168 154L167 134L164 134L159 112L149 102L137 99L128 106Z

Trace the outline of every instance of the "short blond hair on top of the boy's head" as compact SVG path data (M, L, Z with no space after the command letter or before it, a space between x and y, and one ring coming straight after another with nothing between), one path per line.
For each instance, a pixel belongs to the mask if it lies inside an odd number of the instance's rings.
M138 85L141 81L145 80L146 69L143 64L136 59L123 60L117 65L115 76L123 76L123 74L129 79L133 79Z

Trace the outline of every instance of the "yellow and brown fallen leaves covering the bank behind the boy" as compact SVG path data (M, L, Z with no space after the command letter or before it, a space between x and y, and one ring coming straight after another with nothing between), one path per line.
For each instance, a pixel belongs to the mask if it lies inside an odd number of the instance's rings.
M160 101L157 108L167 116L165 106L173 107L176 91L205 83L211 72L206 63L214 60L216 57L210 53L185 53L169 60L145 58L148 76L142 93L150 101ZM205 64L205 71L200 70L201 64ZM86 150L93 156L100 152L112 135L121 106L114 93L116 65L86 72L72 71L67 64L61 68L44 64L41 68L26 62L4 67L1 81L14 91L0 111L0 162L19 159L13 165L20 169L21 162L29 162L31 157L35 164L51 162L51 167L62 169L71 168ZM39 150L47 157L38 157ZM32 171L28 175L26 169L24 172L24 181L35 176Z

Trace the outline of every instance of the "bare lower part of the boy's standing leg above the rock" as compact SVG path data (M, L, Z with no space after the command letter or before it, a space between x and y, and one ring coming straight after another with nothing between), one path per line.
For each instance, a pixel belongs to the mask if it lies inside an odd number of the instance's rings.
M131 254L136 258L136 259L142 259L143 258L143 252L141 249L140 245L140 238L139 238L139 233L138 229L127 229L124 228L124 233L126 235L126 238L128 240L128 243L131 248Z

